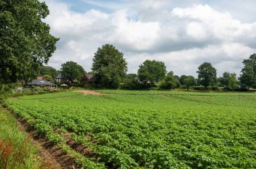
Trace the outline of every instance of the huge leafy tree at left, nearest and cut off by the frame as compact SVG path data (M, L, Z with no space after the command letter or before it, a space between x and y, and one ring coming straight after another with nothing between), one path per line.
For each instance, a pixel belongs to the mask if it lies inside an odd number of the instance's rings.
M0 84L28 81L49 61L59 39L42 22L47 15L44 2L0 1Z

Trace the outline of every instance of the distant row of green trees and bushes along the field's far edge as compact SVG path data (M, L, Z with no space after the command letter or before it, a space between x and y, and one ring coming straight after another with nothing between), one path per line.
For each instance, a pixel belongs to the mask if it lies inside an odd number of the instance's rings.
M239 78L236 78L234 72L224 72L222 76L217 78L216 68L209 62L199 65L196 78L191 75L177 76L172 71L166 71L164 62L156 60L145 60L139 65L137 74L127 74L127 61L123 57L123 53L117 50L115 46L105 44L98 48L94 54L92 72L88 73L96 76L96 81L92 86L99 88L149 89L158 87L160 89L189 89L193 87L193 89L200 90L218 90L218 87L222 87L224 90L234 91L234 89L239 88L255 87L255 58L256 54L252 54L249 59L243 61L244 68L241 70ZM58 71L53 71L53 69L49 66L43 66L40 74L44 75L47 80L49 78L48 74L57 75ZM52 72L55 73L51 74ZM59 73L70 82L79 83L86 72L79 64L68 61L61 64Z

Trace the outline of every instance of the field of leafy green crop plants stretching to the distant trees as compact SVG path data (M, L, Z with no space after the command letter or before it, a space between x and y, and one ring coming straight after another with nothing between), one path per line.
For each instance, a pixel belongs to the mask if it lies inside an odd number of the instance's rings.
M85 168L256 168L254 93L99 92L5 105Z

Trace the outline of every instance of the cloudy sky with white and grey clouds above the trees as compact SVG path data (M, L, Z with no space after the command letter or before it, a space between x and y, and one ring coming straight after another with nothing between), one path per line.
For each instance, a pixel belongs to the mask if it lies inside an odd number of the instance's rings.
M41 0L42 1L42 0ZM67 61L86 71L99 47L113 44L137 73L145 60L162 61L179 76L197 76L211 62L217 76L238 76L256 53L255 0L46 0L43 21L60 38L48 66Z

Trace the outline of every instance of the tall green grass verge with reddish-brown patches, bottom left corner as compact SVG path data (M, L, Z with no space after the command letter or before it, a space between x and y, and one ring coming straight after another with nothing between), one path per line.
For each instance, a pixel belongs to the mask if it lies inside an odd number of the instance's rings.
M40 159L13 115L0 108L0 168L40 168Z

